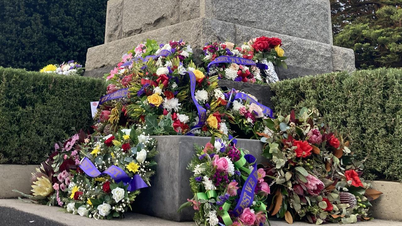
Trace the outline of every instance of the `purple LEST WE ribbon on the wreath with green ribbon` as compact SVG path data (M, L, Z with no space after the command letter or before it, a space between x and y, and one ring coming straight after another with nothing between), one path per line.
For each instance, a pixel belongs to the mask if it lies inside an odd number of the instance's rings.
M243 185L242 192L240 193L239 202L232 211L235 217L242 214L245 208L250 207L252 201L254 200L254 189L258 182L257 163L255 163L253 167L254 168L248 176L246 183L244 183Z

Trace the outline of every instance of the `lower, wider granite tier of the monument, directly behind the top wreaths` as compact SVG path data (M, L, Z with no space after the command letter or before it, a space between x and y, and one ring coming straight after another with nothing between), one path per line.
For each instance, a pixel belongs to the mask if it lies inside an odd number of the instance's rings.
M147 38L156 39L159 42L183 38L187 43L191 43L194 49L201 49L207 41L228 40L239 43L260 35L276 36L283 39L283 49L285 50L285 55L288 57L286 62L290 67L288 70L279 69L279 76L281 77L281 72L284 74L282 78L332 72L332 55L338 54L337 51L343 50L332 48L332 45L329 44L307 39L281 35L209 18L196 18L89 48L86 55L86 70L116 65L123 53L126 53L132 49L133 45ZM199 51L195 53L195 56L198 54ZM353 61L351 57L344 59L345 62L348 62L348 60ZM348 66L348 64L344 65ZM342 67L343 65L337 64L338 70L342 70Z

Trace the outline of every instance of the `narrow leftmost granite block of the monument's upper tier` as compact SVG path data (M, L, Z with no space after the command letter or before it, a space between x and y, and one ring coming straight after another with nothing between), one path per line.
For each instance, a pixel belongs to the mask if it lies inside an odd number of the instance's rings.
M105 43L123 38L123 0L109 0L106 10Z

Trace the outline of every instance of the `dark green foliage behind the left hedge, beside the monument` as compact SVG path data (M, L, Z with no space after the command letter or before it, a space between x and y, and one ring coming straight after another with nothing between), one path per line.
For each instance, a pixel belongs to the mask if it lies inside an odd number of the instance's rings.
M104 43L107 0L0 1L0 66L37 71L47 64L85 64Z

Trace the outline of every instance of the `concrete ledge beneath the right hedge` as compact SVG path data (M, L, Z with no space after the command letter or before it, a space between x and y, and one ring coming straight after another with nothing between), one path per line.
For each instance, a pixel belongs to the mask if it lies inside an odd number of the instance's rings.
M378 219L402 221L402 184L390 181L371 181L371 184L373 189L383 193L372 201L372 216Z

